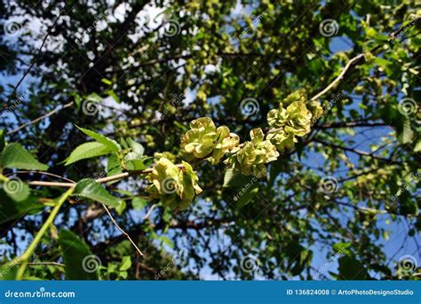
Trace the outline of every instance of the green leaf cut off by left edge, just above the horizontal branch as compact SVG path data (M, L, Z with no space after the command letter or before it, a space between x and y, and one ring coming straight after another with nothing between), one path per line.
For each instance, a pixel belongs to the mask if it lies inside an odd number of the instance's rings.
M40 163L32 154L20 144L7 144L1 159L1 167L17 168L23 170L48 170L48 166Z

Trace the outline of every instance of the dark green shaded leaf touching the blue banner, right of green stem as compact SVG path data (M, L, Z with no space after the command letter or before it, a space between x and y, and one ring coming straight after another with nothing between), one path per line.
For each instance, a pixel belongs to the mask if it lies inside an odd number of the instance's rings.
M59 244L65 263L66 279L98 280L100 260L72 231L60 230Z

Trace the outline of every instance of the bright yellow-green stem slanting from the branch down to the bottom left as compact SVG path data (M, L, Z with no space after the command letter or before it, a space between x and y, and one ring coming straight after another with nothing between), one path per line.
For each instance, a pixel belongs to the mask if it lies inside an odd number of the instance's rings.
M55 217L59 213L60 207L64 204L66 199L68 199L68 197L72 194L74 190L75 188L71 187L70 189L68 189L68 191L66 191L60 197L59 201L57 202L57 205L52 209L52 213L50 214L50 216L48 216L47 221L44 222L43 227L41 227L41 229L38 231L38 233L36 234L36 237L34 238L32 243L28 246L28 249L25 251L25 253L23 253L22 255L20 255L19 257L17 257L16 259L12 261L11 263L12 265L16 265L20 263L20 268L18 269L18 273L16 274L17 280L22 279L23 274L25 273L25 269L27 269L27 266L28 266L28 260L32 256L32 253L34 253L34 251L36 250L36 246L38 246L39 242L41 241L41 238L43 238L44 236L45 231L52 224Z

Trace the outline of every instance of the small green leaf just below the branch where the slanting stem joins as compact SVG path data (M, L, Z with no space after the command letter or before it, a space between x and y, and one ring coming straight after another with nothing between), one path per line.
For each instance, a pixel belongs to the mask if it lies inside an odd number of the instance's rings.
M113 197L105 188L91 178L84 178L77 183L73 196L92 199L111 207L118 207L120 205L119 199Z

